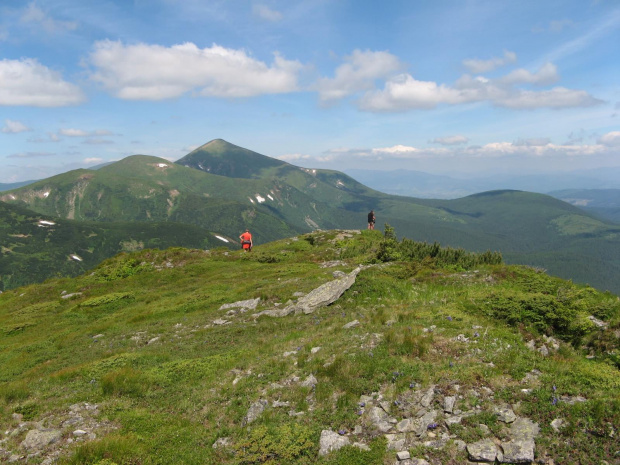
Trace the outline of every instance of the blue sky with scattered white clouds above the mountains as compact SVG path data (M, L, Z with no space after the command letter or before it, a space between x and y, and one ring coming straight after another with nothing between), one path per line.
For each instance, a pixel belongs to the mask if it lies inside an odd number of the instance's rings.
M0 182L213 139L308 168L619 167L620 2L0 1Z

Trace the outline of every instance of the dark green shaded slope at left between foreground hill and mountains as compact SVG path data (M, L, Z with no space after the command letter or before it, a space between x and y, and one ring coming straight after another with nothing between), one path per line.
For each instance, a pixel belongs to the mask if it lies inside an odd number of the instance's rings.
M80 222L0 202L0 291L77 276L123 251L222 245L212 233L187 224Z

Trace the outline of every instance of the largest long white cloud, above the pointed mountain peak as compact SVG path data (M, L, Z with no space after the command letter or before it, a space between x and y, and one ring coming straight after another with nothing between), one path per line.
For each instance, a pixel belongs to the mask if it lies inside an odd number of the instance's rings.
M274 54L267 65L244 50L219 45L200 49L191 42L164 47L95 43L91 79L127 100L163 100L188 92L205 97L253 97L298 90L298 61Z

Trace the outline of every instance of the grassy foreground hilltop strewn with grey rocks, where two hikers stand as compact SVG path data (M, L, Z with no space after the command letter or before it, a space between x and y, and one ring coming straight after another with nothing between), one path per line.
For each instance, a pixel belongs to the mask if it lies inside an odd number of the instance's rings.
M456 465L508 456L518 424L537 463L620 463L616 296L388 232L144 250L4 292L0 460ZM332 305L263 313L359 265ZM320 455L328 435L349 445Z

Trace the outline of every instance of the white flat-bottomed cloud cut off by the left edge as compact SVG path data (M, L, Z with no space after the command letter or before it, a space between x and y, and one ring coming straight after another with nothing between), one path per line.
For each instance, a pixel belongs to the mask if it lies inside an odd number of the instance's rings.
M61 107L83 101L79 87L36 59L0 60L0 105Z

